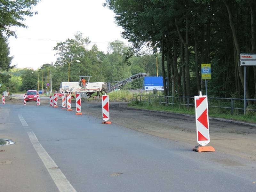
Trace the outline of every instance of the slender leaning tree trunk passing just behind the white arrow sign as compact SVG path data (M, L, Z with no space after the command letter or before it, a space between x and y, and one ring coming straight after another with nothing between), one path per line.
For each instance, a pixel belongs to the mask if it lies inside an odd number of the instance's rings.
M239 46L239 42L238 42L238 38L237 38L237 34L236 34L236 28L233 22L233 16L232 16L232 12L230 9L230 5L228 4L228 0L222 0L223 3L225 4L227 11L228 11L228 17L229 17L229 25L233 34L233 38L234 38L234 43L235 43L235 47L236 47L236 57L237 57L237 66L238 66L238 74L240 77L240 81L242 83L242 86L244 87L244 73L243 73L243 69L242 67L239 65L239 60L240 60L240 46ZM250 93L249 93L249 89L248 89L248 84L246 84L246 98L250 99ZM252 105L252 102L248 100L248 105Z

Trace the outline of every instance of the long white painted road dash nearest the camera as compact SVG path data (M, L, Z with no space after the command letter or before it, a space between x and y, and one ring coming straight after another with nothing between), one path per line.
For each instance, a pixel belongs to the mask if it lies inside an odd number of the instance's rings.
M60 192L76 192L75 188L73 188L73 186L69 183L69 181L65 177L65 175L60 171L60 169L57 167L57 165L52 160L52 158L49 156L49 154L45 151L45 149L39 143L39 141L36 138L35 133L28 132L28 136L29 136L29 139L30 139L31 143L33 144L38 156L43 161L44 166L50 173L52 180L56 184L59 191Z

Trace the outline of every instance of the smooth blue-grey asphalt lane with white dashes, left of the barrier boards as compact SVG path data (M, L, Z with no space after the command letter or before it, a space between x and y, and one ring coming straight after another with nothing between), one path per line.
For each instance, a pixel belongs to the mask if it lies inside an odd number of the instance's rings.
M188 143L94 116L6 104L0 120L0 138L16 142L0 146L1 192L256 190L255 161L196 153Z

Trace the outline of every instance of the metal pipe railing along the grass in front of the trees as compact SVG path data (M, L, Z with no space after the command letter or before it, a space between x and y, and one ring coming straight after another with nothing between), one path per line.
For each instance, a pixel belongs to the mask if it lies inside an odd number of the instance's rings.
M140 103L161 103L166 105L177 106L187 106L189 109L191 106L195 107L194 104L194 97L173 97L173 96L158 96L158 95L139 95L133 94L132 100L137 100ZM244 110L244 99L237 99L237 98L217 98L217 97L210 97L208 98L209 108L226 108L230 109L230 114L233 115L234 109L237 110ZM247 101L252 101L256 103L254 99L246 99ZM256 106L254 108L246 108L247 111L256 111Z

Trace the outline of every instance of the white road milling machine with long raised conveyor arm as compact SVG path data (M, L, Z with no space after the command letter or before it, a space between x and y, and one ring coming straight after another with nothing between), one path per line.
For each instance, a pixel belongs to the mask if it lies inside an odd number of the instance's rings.
M105 93L111 92L115 89L118 89L119 87L132 82L136 79L139 79L141 77L148 76L148 73L139 73L133 76L128 77L127 79L124 79L123 81L117 82L116 84L111 86L111 82L105 83L105 82L90 82L90 77L92 76L79 76L79 82L62 82L60 83L60 93L71 93L73 97L75 97L76 93L80 93L81 97L89 98L91 97L92 93L97 92L97 95L100 95L100 92L103 91ZM83 86L83 83L81 82L82 78L84 78L87 82L85 86Z

